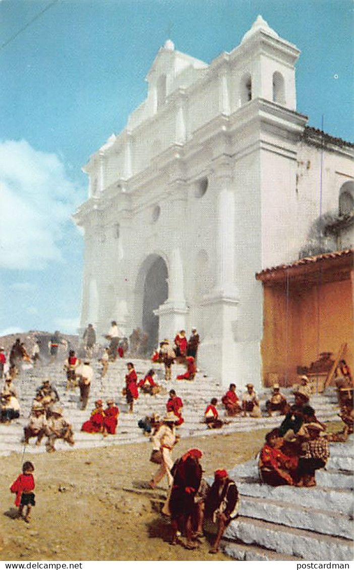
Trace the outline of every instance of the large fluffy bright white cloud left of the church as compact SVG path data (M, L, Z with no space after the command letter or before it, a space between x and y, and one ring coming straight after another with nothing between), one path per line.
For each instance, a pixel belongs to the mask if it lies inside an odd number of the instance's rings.
M27 141L0 142L0 267L43 269L60 261L64 226L82 201L56 154Z

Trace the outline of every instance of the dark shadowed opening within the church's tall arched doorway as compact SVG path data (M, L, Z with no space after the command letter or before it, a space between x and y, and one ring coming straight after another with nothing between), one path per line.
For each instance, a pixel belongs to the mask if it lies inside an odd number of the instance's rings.
M148 258L144 279L142 328L148 335L148 352L158 343L158 316L156 310L168 298L168 269L162 257L154 255Z

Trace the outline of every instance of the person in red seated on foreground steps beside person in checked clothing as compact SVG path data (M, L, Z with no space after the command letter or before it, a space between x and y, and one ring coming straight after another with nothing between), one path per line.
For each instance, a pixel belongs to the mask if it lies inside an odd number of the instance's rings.
M278 428L273 429L266 435L266 443L262 447L259 457L259 471L263 483L272 487L279 485L295 485L294 472L298 466L297 457L288 457L280 447L283 438Z

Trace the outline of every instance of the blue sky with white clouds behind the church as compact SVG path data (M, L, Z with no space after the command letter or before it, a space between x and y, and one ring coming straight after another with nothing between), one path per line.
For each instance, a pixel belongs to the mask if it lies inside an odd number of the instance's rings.
M0 0L0 334L75 331L82 166L144 100L167 38L209 63L258 14L302 51L298 111L353 141L351 0Z

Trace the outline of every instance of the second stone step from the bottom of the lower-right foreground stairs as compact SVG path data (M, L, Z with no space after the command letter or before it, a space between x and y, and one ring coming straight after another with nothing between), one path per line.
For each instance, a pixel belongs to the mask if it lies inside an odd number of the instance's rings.
M257 544L304 560L341 561L353 558L351 540L243 516L230 523L225 531L225 538Z

